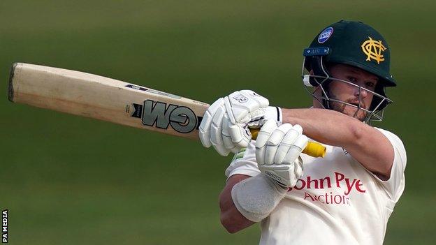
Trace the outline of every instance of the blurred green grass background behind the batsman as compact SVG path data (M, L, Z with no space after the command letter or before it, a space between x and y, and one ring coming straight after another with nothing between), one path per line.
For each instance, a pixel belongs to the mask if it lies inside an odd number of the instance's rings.
M229 235L218 195L231 159L199 142L7 100L15 61L81 70L211 103L253 89L307 107L302 51L337 20L391 45L399 86L376 126L400 135L405 193L385 244L434 244L435 1L0 1L0 208L10 244L257 244ZM430 158L429 158L430 156Z

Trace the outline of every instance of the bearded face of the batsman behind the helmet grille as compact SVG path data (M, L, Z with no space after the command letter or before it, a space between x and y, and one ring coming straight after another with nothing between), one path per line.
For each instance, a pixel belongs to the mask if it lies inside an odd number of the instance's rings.
M359 105L360 101L362 108L366 110L370 108L372 97L374 96L370 91L375 90L375 85L378 82L377 76L360 68L343 64L336 64L330 67L330 74L337 79L357 85L354 86L346 82L333 80L328 89L328 96L330 98L356 106ZM361 89L359 89L359 87L361 87ZM368 89L368 91L365 89ZM359 110L356 107L345 105L344 103L330 101L330 106L332 107L331 109L337 112L342 112L361 121L365 119L367 114L364 110Z

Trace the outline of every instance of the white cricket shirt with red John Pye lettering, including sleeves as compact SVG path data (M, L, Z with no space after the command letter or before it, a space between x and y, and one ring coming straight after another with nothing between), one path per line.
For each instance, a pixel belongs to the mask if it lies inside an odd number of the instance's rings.
M261 221L260 244L383 244L388 218L405 188L407 159L400 138L377 129L395 151L388 181L366 170L341 147L326 145L324 158L302 154L303 177ZM227 177L259 173L254 142L226 169Z

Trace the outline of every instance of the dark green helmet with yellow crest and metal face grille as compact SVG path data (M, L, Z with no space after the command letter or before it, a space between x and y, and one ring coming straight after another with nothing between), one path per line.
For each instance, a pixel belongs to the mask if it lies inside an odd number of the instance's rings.
M324 93L320 102L326 108L329 108L328 84L334 80L326 64L346 64L377 75L379 82L365 121L382 120L382 110L392 102L384 88L394 87L396 83L389 72L388 43L378 31L362 22L341 20L324 28L303 51L303 56L303 75L304 70L312 71L312 75L303 76L305 85L321 87Z

